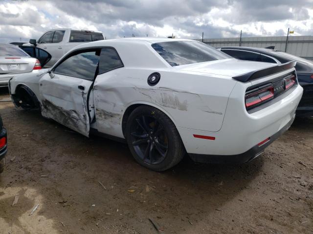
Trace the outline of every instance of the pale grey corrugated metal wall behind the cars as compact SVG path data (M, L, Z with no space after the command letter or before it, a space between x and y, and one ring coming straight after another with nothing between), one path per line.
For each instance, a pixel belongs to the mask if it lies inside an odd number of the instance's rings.
M197 40L201 41L201 39ZM203 39L203 42L213 47L239 46L239 40L239 38L216 38ZM242 38L241 45L262 48L275 46L276 50L285 51L286 37ZM290 36L288 39L287 53L313 60L313 36Z

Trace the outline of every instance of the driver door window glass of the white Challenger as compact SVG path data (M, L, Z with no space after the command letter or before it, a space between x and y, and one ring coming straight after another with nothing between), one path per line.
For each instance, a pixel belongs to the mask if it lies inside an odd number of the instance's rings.
M93 80L99 61L99 50L74 53L60 63L54 73L81 79Z

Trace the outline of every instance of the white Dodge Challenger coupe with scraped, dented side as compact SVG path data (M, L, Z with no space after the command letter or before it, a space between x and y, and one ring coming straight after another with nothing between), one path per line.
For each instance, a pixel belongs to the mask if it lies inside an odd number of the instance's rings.
M212 163L259 156L295 117L294 65L237 60L188 39L112 39L15 76L9 89L17 107L124 140L138 163L163 171L186 152Z

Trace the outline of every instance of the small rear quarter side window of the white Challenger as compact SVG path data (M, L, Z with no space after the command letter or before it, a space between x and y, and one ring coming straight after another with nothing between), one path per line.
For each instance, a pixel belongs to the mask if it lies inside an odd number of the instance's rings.
M123 62L112 48L103 48L100 53L99 74L123 67Z

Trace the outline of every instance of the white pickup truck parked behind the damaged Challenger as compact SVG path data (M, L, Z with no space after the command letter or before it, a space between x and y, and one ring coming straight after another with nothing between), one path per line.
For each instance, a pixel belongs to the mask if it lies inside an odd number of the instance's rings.
M40 37L40 39L30 39L29 43L38 48L44 49L51 55L51 59L45 64L46 67L51 67L64 54L66 54L67 51L76 45L103 39L102 32L59 28L48 30ZM27 44L24 44L23 46L27 46Z

